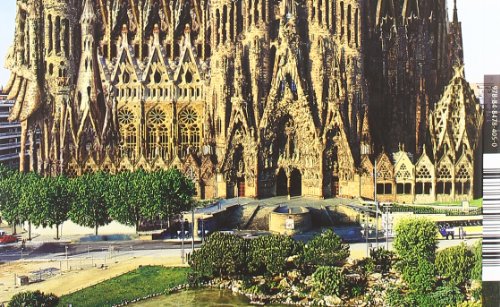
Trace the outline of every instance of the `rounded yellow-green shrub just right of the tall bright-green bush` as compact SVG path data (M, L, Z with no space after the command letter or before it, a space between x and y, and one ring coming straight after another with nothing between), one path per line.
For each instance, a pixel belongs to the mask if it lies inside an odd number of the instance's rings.
M451 285L462 287L470 279L474 255L465 244L452 246L438 252L436 269Z

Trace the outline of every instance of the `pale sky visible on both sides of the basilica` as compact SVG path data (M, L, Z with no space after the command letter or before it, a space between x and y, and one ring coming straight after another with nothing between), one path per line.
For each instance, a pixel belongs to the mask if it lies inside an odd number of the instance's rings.
M451 18L453 0L447 1ZM9 79L4 61L13 43L15 2L0 0L0 85ZM457 5L463 30L466 78L472 83L482 83L485 74L500 74L500 1L457 0Z

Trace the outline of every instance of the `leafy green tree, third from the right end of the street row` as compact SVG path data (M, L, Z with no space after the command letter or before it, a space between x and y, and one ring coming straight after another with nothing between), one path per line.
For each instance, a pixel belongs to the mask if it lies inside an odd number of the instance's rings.
M97 172L74 178L69 184L73 194L69 218L78 225L95 228L96 235L100 226L111 221L106 203L108 180L108 174Z

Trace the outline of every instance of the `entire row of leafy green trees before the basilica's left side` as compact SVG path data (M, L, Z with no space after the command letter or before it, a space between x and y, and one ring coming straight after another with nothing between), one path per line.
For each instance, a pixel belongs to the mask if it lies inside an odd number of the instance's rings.
M96 235L111 220L138 230L141 220L165 220L189 210L194 193L193 182L177 169L97 172L70 179L0 168L0 212L14 225L14 233L15 225L24 222L59 229L68 219L95 228Z

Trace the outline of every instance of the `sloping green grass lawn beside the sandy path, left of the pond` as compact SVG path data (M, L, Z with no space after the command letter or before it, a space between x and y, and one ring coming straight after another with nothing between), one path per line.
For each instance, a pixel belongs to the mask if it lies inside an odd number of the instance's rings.
M189 268L144 266L95 286L62 296L59 306L111 306L187 282Z

